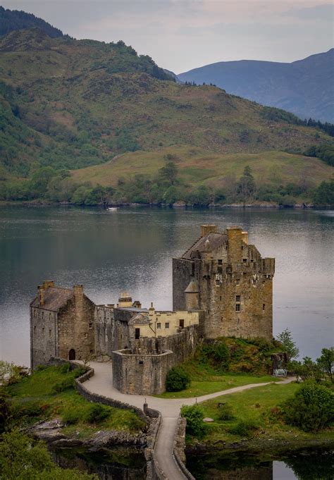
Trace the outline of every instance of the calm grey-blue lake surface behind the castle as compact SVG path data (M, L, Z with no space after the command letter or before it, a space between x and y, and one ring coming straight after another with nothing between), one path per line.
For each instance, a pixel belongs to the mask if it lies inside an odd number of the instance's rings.
M334 211L0 207L0 358L29 364L29 302L45 279L82 283L96 303L130 290L171 309L171 259L201 223L240 225L276 257L275 334L290 328L302 356L333 345Z

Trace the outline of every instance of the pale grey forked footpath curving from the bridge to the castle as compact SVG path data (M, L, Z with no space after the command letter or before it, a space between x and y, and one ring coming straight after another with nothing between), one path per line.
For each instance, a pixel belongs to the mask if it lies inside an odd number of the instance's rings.
M178 423L178 417L180 414L180 407L182 405L193 405L195 402L204 402L210 398L221 397L221 395L228 395L229 393L241 392L243 390L249 390L249 388L255 388L259 386L265 386L269 383L250 383L235 388L229 388L221 392L210 393L209 395L203 395L197 398L156 398L156 397L144 397L144 395L127 395L120 393L113 387L112 369L111 363L89 362L90 366L94 369L94 376L85 381L85 388L91 393L97 393L104 395L105 397L119 400L120 402L128 403L135 407L142 409L146 400L149 408L154 408L161 412L161 426L159 429L159 436L156 441L154 453L156 460L159 463L159 467L162 469L167 479L170 480L184 480L187 479L185 474L181 471L180 467L175 461L173 455L173 442L175 436L175 429ZM280 381L279 383L290 383L294 378Z

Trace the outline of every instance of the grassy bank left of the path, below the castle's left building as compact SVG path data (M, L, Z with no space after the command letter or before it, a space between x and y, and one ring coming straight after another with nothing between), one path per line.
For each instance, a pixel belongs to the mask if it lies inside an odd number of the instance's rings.
M79 373L66 371L63 366L47 367L6 387L18 426L61 418L66 422L63 433L70 436L75 433L77 438L91 436L101 429L135 433L144 427L144 421L130 410L101 405L102 414L95 412L94 408L100 404L88 402L74 388Z

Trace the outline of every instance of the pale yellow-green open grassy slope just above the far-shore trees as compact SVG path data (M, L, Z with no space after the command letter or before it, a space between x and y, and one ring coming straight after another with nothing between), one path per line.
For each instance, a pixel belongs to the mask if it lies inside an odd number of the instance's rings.
M180 178L191 185L207 184L225 186L225 177L242 174L249 165L259 185L278 187L305 178L311 185L318 185L333 175L333 167L314 157L285 152L259 152L256 154L216 154L199 147L173 146L154 152L125 153L99 166L73 171L79 182L93 185L116 185L118 178L128 178L141 173L154 176L165 163L165 156L178 157Z

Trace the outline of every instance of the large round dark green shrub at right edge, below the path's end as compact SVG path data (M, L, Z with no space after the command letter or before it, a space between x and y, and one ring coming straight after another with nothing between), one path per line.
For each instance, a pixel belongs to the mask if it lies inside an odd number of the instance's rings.
M334 394L325 386L307 381L284 402L282 410L287 424L318 431L334 421Z

